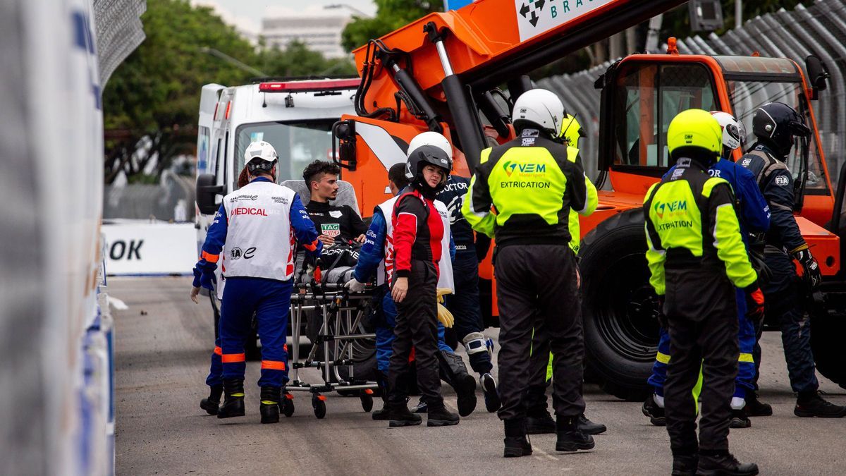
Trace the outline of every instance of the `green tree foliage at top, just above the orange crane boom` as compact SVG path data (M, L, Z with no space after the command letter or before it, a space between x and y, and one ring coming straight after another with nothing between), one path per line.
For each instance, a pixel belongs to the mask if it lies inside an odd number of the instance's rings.
M442 12L442 0L374 0L376 16L353 17L341 33L341 45L347 51L365 45L432 12Z

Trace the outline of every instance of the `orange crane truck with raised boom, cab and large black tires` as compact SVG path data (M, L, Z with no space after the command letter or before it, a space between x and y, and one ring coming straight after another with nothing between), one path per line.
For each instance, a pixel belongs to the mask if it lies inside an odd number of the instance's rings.
M404 161L411 138L426 130L450 139L453 171L470 176L483 148L514 138L509 109L532 87L526 73L682 3L478 0L368 42L354 51L361 76L355 115L342 116L332 127L338 144L333 157L345 169L343 179L354 185L362 211L369 214L389 197L387 169ZM670 165L670 120L687 108L722 110L752 130L755 108L781 101L803 113L814 130L794 147L788 166L800 185L795 207L800 228L826 278L814 296L817 368L846 385L846 354L839 351L846 335L840 270L846 180L832 189L820 147L812 107L826 86L820 61L807 58L806 76L787 58L679 55L673 43L667 54L624 58L596 81L602 94L596 185L607 190L600 191L596 213L581 221L586 376L621 398L638 399L648 390L658 324L640 206L645 191ZM495 323L496 283L489 260L480 276L483 310Z

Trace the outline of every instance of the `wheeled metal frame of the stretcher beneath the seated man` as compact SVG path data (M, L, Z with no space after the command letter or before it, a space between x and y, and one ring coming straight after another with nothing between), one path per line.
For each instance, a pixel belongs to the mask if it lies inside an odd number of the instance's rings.
M358 394L361 408L370 412L373 408L375 381L359 379L354 374L354 350L356 345L370 345L376 339L375 334L364 332L362 321L371 313L373 289L362 293L351 293L340 284L310 283L294 285L291 296L291 333L294 340L288 355L290 368L288 385L285 388L282 412L286 417L294 414L294 401L291 392L303 391L311 394L311 407L317 418L326 416L326 396L338 391L344 395ZM320 329L311 342L305 356L300 355L299 338L307 313L316 312ZM322 383L309 383L301 379L299 371L303 368L317 368L321 372ZM345 372L341 372L341 370Z

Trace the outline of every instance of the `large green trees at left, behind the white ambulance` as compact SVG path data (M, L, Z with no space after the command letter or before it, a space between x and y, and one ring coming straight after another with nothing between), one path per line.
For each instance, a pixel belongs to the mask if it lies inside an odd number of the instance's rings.
M323 58L300 43L254 47L211 8L187 0L147 0L141 20L146 40L103 91L106 183L121 171L129 180L155 180L174 157L194 153L201 86L245 84L255 76L210 49L267 75L354 73L348 59Z

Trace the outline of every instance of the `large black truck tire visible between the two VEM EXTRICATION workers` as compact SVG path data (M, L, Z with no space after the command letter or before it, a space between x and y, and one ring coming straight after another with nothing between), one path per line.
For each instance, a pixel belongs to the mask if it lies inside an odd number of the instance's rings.
M640 208L618 213L582 241L586 373L602 390L628 401L646 384L658 344L658 304L649 285Z

